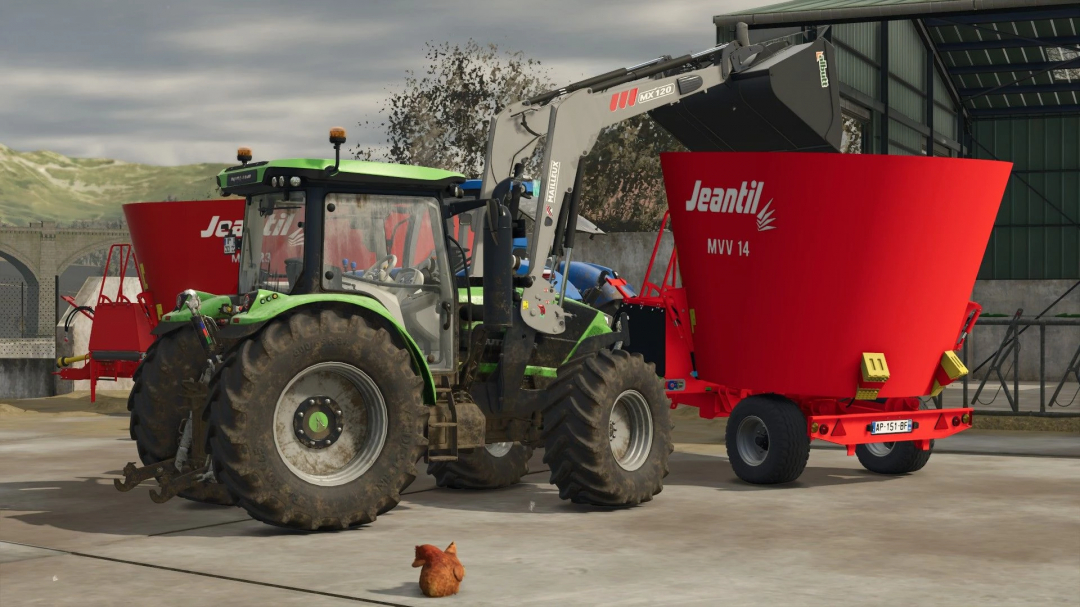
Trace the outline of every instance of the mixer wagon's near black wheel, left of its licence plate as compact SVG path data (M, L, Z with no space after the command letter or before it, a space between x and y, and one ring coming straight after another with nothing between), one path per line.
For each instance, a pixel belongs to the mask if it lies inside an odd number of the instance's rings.
M806 417L778 394L756 394L735 405L725 443L735 475L755 485L791 483L810 457Z

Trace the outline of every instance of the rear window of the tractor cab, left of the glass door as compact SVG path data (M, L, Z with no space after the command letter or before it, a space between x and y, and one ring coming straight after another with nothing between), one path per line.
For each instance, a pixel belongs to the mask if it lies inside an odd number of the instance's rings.
M240 293L288 293L303 269L302 191L247 199L241 240Z

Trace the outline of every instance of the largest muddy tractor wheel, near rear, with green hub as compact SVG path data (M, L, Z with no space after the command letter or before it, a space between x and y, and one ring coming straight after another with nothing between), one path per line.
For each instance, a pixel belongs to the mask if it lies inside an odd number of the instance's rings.
M370 523L416 478L422 388L401 338L360 315L309 309L271 321L212 386L217 477L270 525Z

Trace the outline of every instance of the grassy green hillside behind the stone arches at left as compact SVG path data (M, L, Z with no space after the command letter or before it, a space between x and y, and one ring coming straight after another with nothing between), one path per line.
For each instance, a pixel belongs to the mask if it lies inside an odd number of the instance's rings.
M125 202L218 198L214 176L226 166L153 166L0 144L0 224L114 220Z

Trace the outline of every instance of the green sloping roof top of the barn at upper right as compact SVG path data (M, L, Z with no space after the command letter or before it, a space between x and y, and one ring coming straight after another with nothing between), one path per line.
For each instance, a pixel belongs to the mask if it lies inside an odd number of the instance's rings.
M1034 9L1074 4L1076 0L792 0L713 17L716 25L809 25L842 21L877 21L943 16L974 11Z

